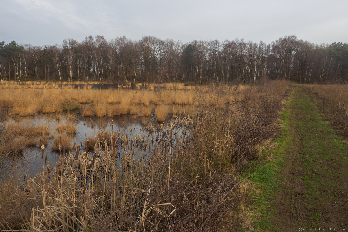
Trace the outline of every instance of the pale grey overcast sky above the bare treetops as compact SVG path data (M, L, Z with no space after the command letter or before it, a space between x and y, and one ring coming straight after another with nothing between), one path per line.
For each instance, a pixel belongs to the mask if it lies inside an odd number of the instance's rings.
M191 42L284 35L321 44L348 41L348 1L1 1L0 40L54 45L88 35L144 35Z

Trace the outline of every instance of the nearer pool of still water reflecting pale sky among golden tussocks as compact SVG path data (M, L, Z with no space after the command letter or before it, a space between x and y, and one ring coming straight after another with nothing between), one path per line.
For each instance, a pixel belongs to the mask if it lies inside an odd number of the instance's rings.
M2 128L6 128L7 123L21 123L21 125L29 127L44 126L49 128L49 134L52 138L48 139L45 146L45 157L47 157L48 161L45 163L45 167L49 163L50 168L53 168L58 163L61 155L66 155L67 152L76 153L76 149L65 152L52 150L54 138L60 136L57 132L57 127L68 123L76 127L76 133L70 138L70 146L76 144L76 146L80 145L81 147L82 145L80 151L86 151L87 139L97 138L100 131L114 135L116 137L115 144L118 151L117 162L119 164L121 164L124 155L129 153L131 146L133 146L133 153L136 154L135 159L145 160L146 156L153 152L154 149L158 150L159 146L164 151L166 146L174 147L178 142L182 143L182 138L189 135L187 127L177 123L171 117L167 117L164 123L158 124L155 115L133 119L130 115L81 117L73 113L50 113L18 117L15 121L13 119L5 119L1 122ZM131 140L132 142L130 142ZM99 143L100 141L98 141ZM90 149L88 155L93 156L94 151ZM10 156L3 160L1 163L1 179L5 176L13 175L14 171L19 172L16 176L23 176L24 174L34 176L42 170L42 163L41 146L38 142L31 147L23 149L20 155Z

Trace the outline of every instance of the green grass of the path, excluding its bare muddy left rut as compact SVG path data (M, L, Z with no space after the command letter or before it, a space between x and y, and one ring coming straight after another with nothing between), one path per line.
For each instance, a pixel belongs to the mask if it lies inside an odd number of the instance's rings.
M296 152L301 154L300 178L304 182L301 201L307 209L305 220L296 222L299 227L323 227L324 216L330 215L325 211L326 205L343 194L338 187L340 181L332 180L341 179L342 185L347 185L347 141L334 135L303 89L294 88L286 106L282 113L282 135L275 140L276 149L265 150L261 155L267 158L251 163L243 176L248 176L255 187L251 192L255 230L284 230L281 224L275 223L279 216L276 196L284 188L284 167L294 146L298 146ZM336 225L344 226L345 222L337 220L331 218Z

